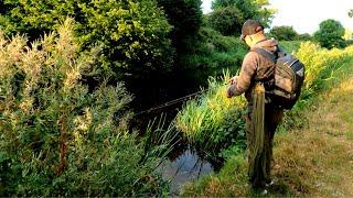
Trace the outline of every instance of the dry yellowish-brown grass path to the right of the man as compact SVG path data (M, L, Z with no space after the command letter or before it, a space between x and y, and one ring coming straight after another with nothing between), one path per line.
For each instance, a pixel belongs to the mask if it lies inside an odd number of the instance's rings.
M279 134L274 175L290 191L353 196L353 75L306 112L308 128Z

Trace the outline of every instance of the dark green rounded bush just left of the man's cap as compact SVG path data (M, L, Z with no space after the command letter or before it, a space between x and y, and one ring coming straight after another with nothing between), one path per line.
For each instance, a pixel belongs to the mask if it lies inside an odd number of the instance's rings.
M240 35L243 23L243 13L236 7L216 9L208 16L208 25L223 35Z

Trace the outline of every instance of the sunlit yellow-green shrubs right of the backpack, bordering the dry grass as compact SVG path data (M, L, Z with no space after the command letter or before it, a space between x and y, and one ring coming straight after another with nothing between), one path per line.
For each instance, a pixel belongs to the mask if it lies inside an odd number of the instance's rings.
M300 128L306 123L300 114L302 109L307 108L319 92L329 89L329 81L336 81L342 73L341 67L353 59L352 47L328 51L311 42L301 43L296 55L306 65L306 80L300 100L291 111L286 112L285 129L293 125Z

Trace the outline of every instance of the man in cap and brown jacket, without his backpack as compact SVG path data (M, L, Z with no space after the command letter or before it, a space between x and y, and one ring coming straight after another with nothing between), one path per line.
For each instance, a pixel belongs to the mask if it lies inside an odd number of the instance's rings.
M254 189L267 194L266 187L274 184L270 178L272 142L277 125L282 119L284 110L265 95L267 87L274 84L275 65L256 52L263 48L277 56L278 42L267 38L264 26L247 20L242 29L240 38L250 47L243 61L239 76L229 80L226 96L232 98L245 92L247 99L246 138L248 147L248 176Z

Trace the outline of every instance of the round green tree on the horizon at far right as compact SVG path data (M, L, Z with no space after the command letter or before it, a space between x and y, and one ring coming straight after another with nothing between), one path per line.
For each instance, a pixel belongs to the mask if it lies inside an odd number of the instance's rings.
M329 19L322 21L319 26L320 29L314 33L313 37L322 47L344 47L343 36L345 30L339 21Z

